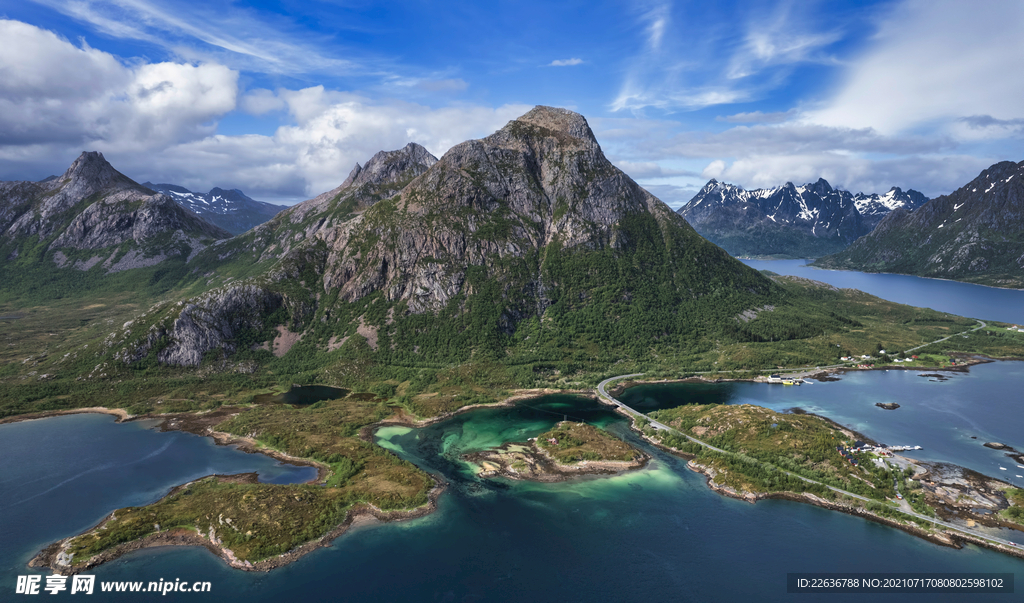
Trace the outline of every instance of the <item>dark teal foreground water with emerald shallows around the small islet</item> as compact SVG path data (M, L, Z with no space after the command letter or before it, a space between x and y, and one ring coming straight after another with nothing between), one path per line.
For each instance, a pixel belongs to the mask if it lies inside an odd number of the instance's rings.
M874 375L882 379L884 374ZM805 387L836 385L840 384ZM860 385L871 389L877 384L868 376ZM709 392L720 395L718 390ZM330 548L266 574L229 569L203 549L168 548L142 551L104 565L96 570L97 579L179 577L212 583L209 596L162 598L181 601L648 602L793 601L794 596L785 593L785 574L798 571L1016 571L1024 575L1024 561L989 551L938 547L808 505L772 501L750 505L720 497L682 460L646 446L620 417L592 400L557 396L527 404L468 413L422 429L379 432L383 445L449 484L437 512L427 517L356 528ZM467 451L537 435L564 415L603 425L644 446L653 457L651 463L644 470L613 477L535 484L479 480L459 460ZM68 419L91 421L73 424ZM25 426L38 429L38 437L13 438L10 431L4 431ZM51 471L77 475L90 467L121 463L119 459L139 459L182 435L113 425L101 417L0 428L0 447L5 454L16 448L15 461L25 465L23 469L13 463L0 465L4 511L0 527L5 534L0 548L0 600L13 593L16 574L28 573L24 562L40 546L87 527L113 508L153 500L183 480L180 467L157 465L144 476L126 468L124 479L111 479L101 489L47 493L54 481L48 477ZM51 468L46 465L47 455L54 442L62 440L76 441L80 455L61 457L59 466ZM212 446L207 454L221 450L240 456L224 457L230 462L257 458ZM142 487L142 479L148 480L147 487ZM77 482L87 483L84 477L72 483ZM13 489L18 498L35 496L41 504L11 515L8 499L13 497L8 491ZM140 489L148 493L139 494ZM69 512L81 518L66 520ZM24 528L7 536L15 522ZM852 595L798 598L864 600ZM1015 601L1019 595L920 599ZM128 599L96 594L89 600ZM870 600L905 601L906 597Z

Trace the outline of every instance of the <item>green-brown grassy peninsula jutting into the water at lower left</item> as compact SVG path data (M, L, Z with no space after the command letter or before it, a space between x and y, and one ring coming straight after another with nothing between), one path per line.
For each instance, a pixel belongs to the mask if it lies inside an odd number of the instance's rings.
M413 464L358 437L361 427L391 414L373 394L354 394L304 408L255 406L214 427L293 457L327 465L322 485L238 483L208 478L146 507L115 511L115 520L76 539L77 561L160 529L184 527L217 537L242 560L257 561L317 539L353 505L384 511L427 503L433 480ZM230 521L228 521L230 520Z

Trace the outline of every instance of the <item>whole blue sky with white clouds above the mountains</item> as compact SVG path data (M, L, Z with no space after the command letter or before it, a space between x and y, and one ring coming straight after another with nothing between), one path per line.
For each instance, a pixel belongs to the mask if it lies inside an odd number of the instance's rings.
M0 179L101 150L294 203L535 104L673 207L709 178L948 192L1021 161L1024 3L0 0Z

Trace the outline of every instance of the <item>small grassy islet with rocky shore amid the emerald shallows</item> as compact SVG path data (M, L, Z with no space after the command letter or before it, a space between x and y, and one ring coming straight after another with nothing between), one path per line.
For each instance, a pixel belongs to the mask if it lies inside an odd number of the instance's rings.
M463 459L478 465L481 477L564 481L639 469L649 457L603 429L564 421L528 442L510 442Z

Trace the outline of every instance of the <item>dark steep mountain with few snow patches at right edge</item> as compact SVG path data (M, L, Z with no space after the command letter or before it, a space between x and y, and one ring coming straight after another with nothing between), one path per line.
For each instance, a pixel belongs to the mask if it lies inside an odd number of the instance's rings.
M997 163L950 195L897 208L815 265L1024 287L1024 162Z

